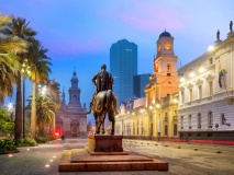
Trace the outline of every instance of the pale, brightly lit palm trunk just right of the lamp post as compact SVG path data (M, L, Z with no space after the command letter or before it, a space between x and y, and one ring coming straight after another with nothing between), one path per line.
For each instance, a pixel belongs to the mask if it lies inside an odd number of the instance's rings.
M31 108L31 138L36 136L36 83L33 82L32 108Z

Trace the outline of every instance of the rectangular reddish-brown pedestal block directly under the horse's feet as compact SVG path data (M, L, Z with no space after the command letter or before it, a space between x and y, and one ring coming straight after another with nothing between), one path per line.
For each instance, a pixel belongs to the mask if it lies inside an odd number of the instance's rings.
M123 136L88 136L90 152L123 152Z

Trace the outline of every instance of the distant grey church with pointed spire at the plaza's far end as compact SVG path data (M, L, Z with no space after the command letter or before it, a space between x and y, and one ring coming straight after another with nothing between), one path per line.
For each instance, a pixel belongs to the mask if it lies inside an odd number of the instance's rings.
M86 137L87 136L87 109L80 104L79 80L74 71L70 80L69 102L65 101L65 92L63 90L63 103L55 114L55 132L65 137Z

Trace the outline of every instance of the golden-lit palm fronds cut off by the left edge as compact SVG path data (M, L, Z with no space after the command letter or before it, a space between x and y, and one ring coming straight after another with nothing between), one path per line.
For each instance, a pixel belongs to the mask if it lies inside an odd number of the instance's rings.
M0 13L0 102L12 94L12 84L20 69L15 52L27 51L27 43L19 37L5 36L2 30L11 23L12 16Z

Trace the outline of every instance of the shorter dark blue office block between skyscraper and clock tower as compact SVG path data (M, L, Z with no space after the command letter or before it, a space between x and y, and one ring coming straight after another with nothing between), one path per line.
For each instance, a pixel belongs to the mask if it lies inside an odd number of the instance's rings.
M149 73L134 75L133 79L133 92L135 97L145 96L145 85L148 84Z

